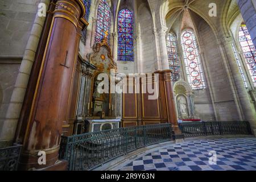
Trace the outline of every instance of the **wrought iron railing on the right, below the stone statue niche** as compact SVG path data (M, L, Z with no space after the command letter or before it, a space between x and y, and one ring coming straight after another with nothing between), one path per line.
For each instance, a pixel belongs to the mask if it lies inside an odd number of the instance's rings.
M192 122L179 123L185 138L209 135L250 135L250 123L239 122Z

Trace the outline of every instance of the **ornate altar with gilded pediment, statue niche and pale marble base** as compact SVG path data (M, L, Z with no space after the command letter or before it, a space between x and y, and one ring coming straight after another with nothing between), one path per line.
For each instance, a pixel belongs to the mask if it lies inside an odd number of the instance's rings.
M108 32L88 53L80 84L77 120L73 134L121 127L121 93L111 92L110 83L118 82L117 64L108 45ZM86 71L86 72L85 72Z

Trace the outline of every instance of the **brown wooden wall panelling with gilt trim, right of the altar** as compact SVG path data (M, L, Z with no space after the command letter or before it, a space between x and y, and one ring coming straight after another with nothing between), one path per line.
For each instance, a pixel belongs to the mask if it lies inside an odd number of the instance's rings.
M158 89L154 89L155 86L152 87L155 92L158 92L158 94L156 94L156 99L153 100L148 97L154 95L154 93L150 93L147 90L147 84L150 83L156 83L158 86ZM131 88L134 90L140 90L140 92L127 93L127 85L131 86ZM123 85L124 93L122 100L122 126L128 127L168 122L166 91L164 89L165 87L162 73L159 73L159 81L154 80L154 76L153 78L148 79L146 77L141 77L137 84L131 80L130 82L126 81L125 85ZM144 91L142 92L142 90Z

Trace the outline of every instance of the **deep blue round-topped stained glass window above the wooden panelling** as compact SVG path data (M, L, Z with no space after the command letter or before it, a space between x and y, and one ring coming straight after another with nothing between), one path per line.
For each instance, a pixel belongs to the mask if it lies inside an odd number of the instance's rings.
M118 14L118 60L133 61L133 14L122 9Z

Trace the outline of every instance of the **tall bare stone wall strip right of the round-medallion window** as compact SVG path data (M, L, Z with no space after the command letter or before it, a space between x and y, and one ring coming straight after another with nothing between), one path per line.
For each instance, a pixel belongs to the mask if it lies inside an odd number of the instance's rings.
M216 36L204 20L201 21L198 31L200 35L201 56L204 57L203 64L206 68L204 72L205 75L208 75L207 82L210 82L207 89L212 89L212 99L216 107L216 115L220 121L237 120L239 117L236 107L234 107L232 90L230 89L220 50L218 49ZM200 97L200 100L204 100L204 98ZM209 114L211 113L213 113L213 110Z

